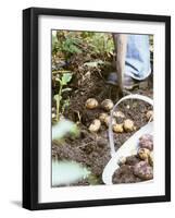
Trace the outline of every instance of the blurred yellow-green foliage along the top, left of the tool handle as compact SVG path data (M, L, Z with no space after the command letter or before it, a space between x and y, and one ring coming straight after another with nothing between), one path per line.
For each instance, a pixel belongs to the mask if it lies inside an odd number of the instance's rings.
M89 53L105 61L113 51L112 34L58 31L57 36L52 35L52 55L60 53L65 59L78 53Z

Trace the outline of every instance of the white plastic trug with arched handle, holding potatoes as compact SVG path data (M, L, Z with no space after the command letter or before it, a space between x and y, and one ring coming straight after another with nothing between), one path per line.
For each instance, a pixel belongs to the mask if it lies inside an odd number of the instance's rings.
M117 165L121 157L127 157L130 155L137 154L138 148L138 140L141 135L152 133L153 132L153 122L147 123L145 126L142 126L139 131L137 131L132 137L129 137L118 149L115 152L114 147L114 140L113 140L113 131L112 131L112 119L113 119L113 112L116 110L116 107L124 100L127 99L138 99L143 100L151 106L153 106L153 100L147 96L142 95L128 95L123 97L121 100L118 100L114 108L111 111L110 116L110 125L109 125L109 141L110 141L110 148L111 148L111 156L112 158L105 166L103 173L102 173L102 180L105 184L113 184L112 183L112 177L117 168L120 166Z

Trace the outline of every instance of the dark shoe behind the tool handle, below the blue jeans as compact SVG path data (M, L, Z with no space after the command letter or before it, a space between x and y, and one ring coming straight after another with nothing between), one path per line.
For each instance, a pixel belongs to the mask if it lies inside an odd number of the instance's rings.
M107 84L118 86L118 77L116 72L111 72L107 78ZM126 90L132 90L139 86L139 81L132 78L128 75L124 76L124 88Z

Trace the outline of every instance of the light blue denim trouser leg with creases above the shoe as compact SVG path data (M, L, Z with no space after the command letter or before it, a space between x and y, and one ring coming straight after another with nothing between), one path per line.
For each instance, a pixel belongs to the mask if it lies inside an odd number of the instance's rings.
M143 80L151 73L148 35L128 35L125 61L126 75Z

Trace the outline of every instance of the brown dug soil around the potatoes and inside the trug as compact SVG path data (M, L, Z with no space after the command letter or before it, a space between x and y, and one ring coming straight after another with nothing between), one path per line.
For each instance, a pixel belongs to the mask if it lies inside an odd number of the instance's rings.
M71 136L62 142L52 142L52 157L59 160L75 160L86 166L91 170L91 174L97 179L97 184L102 184L102 171L110 160L110 148L108 145L108 128L102 125L98 133L88 131L89 124L93 119L98 118L102 108L98 107L93 110L85 108L85 102L88 98L96 98L99 104L110 98L115 104L117 101L117 88L105 84L108 75L107 69L88 69L83 66L70 66L75 73L68 87L72 88L70 95L70 106L64 111L64 117L77 123L80 129L80 135L76 138ZM54 88L54 87L53 87ZM132 90L132 93L142 94L152 98L152 77L150 76L145 84ZM67 94L63 96L66 97ZM54 102L53 102L54 106ZM145 125L147 121L146 113L151 110L151 106L139 100L126 100L118 106L126 119L132 119L136 130L130 133L114 133L115 149L130 137L138 129ZM118 121L120 122L120 121ZM126 171L127 178L123 175ZM129 166L123 166L115 173L115 183L120 182L138 182L130 172ZM73 185L88 185L89 180L80 181Z

